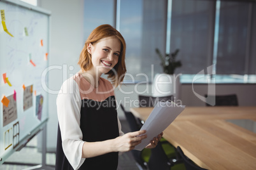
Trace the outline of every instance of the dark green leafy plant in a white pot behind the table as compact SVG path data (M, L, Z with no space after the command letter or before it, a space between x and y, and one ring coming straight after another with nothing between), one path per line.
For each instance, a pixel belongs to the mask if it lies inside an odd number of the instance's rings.
M180 77L175 76L175 69L181 67L181 61L176 61L176 56L180 49L176 49L171 55L165 56L160 53L159 49L155 49L155 52L160 58L162 69L164 74L156 74L153 81L153 96L168 96L173 95L178 98Z

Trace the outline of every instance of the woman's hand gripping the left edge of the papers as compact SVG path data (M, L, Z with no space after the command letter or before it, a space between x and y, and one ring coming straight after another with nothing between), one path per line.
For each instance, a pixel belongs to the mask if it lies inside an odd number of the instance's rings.
M126 133L124 134L124 136L118 136L117 138L114 139L112 145L114 152L127 152L129 150L134 149L136 145L141 143L141 140L146 138L145 133L146 131L143 130Z

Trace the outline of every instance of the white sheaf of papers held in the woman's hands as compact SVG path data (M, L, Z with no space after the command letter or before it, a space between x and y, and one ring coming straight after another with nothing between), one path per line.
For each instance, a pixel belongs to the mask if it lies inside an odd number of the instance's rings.
M148 137L145 140L142 140L134 149L143 150L154 137L157 137L158 134L162 133L162 131L176 119L184 108L184 105L176 105L173 101L157 103L148 119L146 119L141 127L141 130L146 130L146 135Z

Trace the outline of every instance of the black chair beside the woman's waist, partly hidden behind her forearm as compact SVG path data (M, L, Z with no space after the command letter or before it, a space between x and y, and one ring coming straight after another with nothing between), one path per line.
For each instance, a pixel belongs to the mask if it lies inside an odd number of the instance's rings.
M136 119L136 117L134 117L134 115L131 112L127 112L122 104L120 106L124 111L125 117L127 119L131 131L139 131L139 129L141 129L141 123L139 123L138 119ZM150 158L150 149L145 148L141 151L131 150L131 152L137 165L142 169L148 169L147 164Z

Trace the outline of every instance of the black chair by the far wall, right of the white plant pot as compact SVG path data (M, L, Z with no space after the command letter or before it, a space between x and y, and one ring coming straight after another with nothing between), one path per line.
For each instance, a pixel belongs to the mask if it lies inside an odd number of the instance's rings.
M206 97L206 106L238 106L238 97L236 95L204 95Z

